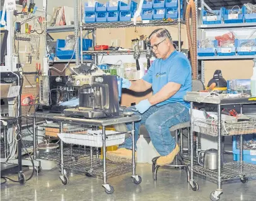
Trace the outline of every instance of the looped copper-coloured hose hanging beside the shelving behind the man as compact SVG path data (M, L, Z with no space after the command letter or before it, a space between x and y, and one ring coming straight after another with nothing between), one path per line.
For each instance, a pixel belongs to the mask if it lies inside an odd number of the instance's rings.
M192 33L190 30L190 11L192 13ZM192 78L197 79L197 18L195 12L194 0L189 0L186 9L186 27L187 27L187 38L189 40L189 52L192 63ZM191 36L192 35L192 36Z

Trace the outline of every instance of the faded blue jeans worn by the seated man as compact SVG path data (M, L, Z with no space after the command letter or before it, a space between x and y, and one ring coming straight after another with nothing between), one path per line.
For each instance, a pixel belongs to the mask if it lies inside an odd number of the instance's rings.
M131 112L134 107L129 107L125 112ZM152 106L148 111L136 115L141 116L141 121L135 123L135 144L139 138L139 128L145 124L154 148L161 156L170 154L175 148L175 139L170 134L170 128L182 122L190 121L189 109L180 102L172 102L163 106ZM127 129L132 130L132 124L127 124ZM132 138L126 138L119 148L132 148Z

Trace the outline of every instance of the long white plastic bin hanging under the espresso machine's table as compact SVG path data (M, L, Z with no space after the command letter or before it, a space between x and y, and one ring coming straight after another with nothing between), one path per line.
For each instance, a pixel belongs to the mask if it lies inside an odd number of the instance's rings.
M118 134L116 131L105 131L107 135L106 146L124 143L125 133ZM102 130L88 130L88 134L59 133L58 136L64 143L78 144L82 146L102 147Z

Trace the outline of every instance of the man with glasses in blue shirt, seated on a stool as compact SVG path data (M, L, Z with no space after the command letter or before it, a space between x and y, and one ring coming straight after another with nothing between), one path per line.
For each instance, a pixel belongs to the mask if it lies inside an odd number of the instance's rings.
M135 82L123 79L122 87L136 92L152 87L153 95L135 106L136 114L141 115L141 121L136 122L135 139L138 139L139 127L145 124L154 148L161 155L156 164L167 165L180 151L170 128L190 119L189 103L183 96L192 90L191 66L187 57L175 50L168 30L154 30L149 40L157 59L142 79ZM131 124L127 124L127 128L131 130ZM116 151L108 151L107 157L113 161L131 162L131 148L130 137Z

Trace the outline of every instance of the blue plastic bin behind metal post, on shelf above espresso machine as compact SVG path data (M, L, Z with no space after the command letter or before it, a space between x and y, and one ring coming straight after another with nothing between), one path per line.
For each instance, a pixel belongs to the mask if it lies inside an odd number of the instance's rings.
M79 49L81 47L81 42L80 39L78 39L79 41ZM66 45L66 41L62 40L62 39L58 39L56 41L56 57L59 59L71 59L71 58L76 58L76 55L74 53L74 50L61 50L61 48L64 48ZM83 39L83 51L88 50L89 47L91 47L93 45L93 40L91 39ZM73 57L72 57L73 55ZM91 60L91 56L90 55L84 55L86 57L83 57L86 60Z

